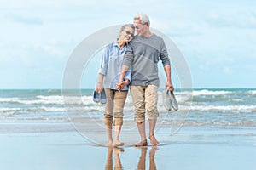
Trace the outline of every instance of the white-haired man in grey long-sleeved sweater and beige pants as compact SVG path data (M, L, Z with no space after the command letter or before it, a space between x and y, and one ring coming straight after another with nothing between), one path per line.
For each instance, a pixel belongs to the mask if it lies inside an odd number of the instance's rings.
M135 146L148 145L145 132L146 111L149 123L149 139L152 145L157 145L159 141L154 137L154 128L159 116L157 111L158 62L161 59L166 72L166 88L170 88L173 91L170 59L163 39L149 30L150 22L146 14L136 14L133 24L137 31L137 36L134 37L126 49L121 77L117 87L119 90L122 88L125 73L131 67L131 97L135 106L135 122L137 122L141 136L141 141Z

